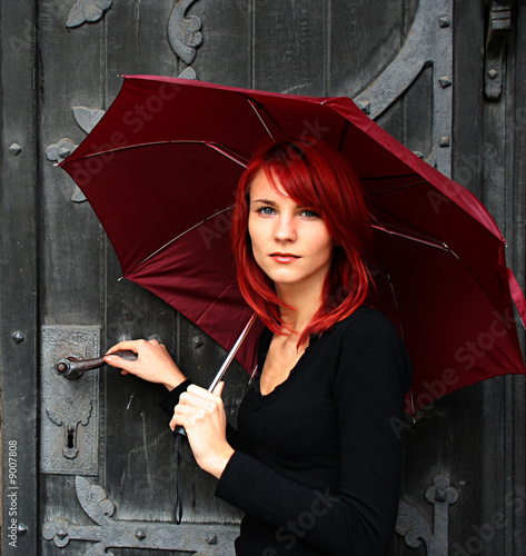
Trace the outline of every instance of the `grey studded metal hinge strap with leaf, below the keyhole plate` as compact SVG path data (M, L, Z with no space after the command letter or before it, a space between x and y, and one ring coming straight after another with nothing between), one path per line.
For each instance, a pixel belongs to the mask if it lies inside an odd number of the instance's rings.
M42 537L59 548L70 540L90 540L83 556L101 556L107 548L149 548L182 550L195 556L228 556L231 554L239 527L235 525L201 525L125 522L111 519L116 506L106 490L78 475L75 480L82 509L96 525L77 525L66 517L56 517L42 526Z

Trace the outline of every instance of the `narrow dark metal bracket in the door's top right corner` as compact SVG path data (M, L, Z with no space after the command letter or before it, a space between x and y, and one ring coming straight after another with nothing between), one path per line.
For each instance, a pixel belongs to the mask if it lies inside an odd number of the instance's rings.
M516 0L486 0L489 9L484 57L484 93L498 100L503 91L506 41L512 29L512 9Z

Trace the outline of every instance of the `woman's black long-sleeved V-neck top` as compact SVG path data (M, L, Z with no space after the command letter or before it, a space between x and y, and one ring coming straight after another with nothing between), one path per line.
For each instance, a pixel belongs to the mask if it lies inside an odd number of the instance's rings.
M262 368L271 334L258 351ZM239 556L381 556L401 475L410 364L391 322L361 308L309 347L267 396L241 403L216 495L246 512Z

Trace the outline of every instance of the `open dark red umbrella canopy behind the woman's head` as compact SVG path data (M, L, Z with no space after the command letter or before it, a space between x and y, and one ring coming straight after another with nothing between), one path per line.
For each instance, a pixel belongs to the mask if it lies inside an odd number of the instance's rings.
M389 136L348 98L252 91L133 76L61 166L85 192L123 277L229 349L250 317L229 245L234 191L269 137L311 137L361 178L376 234L377 305L414 364L413 401L524 373L505 240L484 206ZM251 370L254 342L238 359Z

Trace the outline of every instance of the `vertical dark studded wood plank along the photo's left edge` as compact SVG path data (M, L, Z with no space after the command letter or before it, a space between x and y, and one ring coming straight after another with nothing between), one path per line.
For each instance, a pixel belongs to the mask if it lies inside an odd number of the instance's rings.
M38 553L36 4L0 7L1 553ZM19 146L21 150L16 150ZM10 150L11 149L11 150ZM21 529L19 529L21 528ZM20 534L24 530L23 534Z

